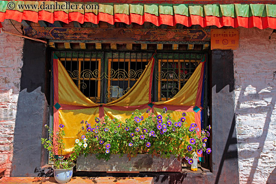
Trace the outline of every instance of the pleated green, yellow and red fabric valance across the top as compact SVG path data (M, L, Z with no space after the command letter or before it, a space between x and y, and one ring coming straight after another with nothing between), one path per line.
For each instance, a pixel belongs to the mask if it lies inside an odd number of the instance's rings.
M12 19L18 22L22 20L32 21L72 21L83 24L90 22L98 24L99 21L113 25L115 22L127 25L136 23L143 25L145 22L153 23L156 26L175 26L182 24L190 27L192 25L231 26L233 28L244 27L259 29L276 29L276 5L270 4L100 4L100 3L71 3L79 9L44 9L47 6L68 6L68 2L53 1L0 1L0 22L5 19ZM29 8L28 6L29 5ZM32 5L32 6L30 6ZM98 9L90 8L92 5ZM20 8L21 7L21 8ZM23 9L22 9L23 8Z

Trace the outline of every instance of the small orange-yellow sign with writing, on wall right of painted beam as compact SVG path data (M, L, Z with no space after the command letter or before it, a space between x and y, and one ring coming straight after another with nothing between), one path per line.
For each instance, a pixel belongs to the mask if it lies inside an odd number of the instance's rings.
M211 50L236 50L239 47L239 30L214 29L211 30Z

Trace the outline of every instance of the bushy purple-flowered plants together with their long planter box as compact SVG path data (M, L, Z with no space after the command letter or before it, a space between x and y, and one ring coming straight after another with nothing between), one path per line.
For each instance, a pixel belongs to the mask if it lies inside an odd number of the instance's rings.
M147 162L145 160L152 162L152 160L149 160L149 155L167 159L171 159L171 155L175 155L175 160L186 158L188 163L192 164L194 152L202 153L206 151L206 153L210 153L211 149L206 148L209 132L200 130L195 123L187 126L186 113L183 113L178 120L174 120L170 114L166 114L166 111L167 108L164 107L163 113L154 115L148 110L149 117L144 118L139 110L135 110L125 122L120 122L116 118L111 120L107 116L104 119L95 118L96 124L94 126L91 126L87 121L82 121L82 130L79 132L80 137L76 139L74 149L84 156L94 154L94 157L104 159L94 164L96 170L93 171L104 171L106 169L106 171L110 171L108 170L112 169L110 167L117 165L123 165L129 171L152 171L150 168L141 170L141 165L145 166L146 164L147 167L157 166L149 166L145 163ZM147 154L148 157L135 160L135 157L141 154ZM119 159L118 156L113 155L126 155L128 158ZM81 155L82 158L84 156ZM90 157L85 161L79 161L78 159L77 170L79 167L84 168L82 164L88 164L86 170L92 171L88 167L93 165L91 161L96 161L92 159L94 157ZM114 157L117 164L111 165L107 162L107 160ZM134 158L133 164L136 164L136 170L131 166L128 168L129 165L125 163L132 158ZM169 162L171 163L171 161ZM180 166L177 168L181 171L181 161L179 163ZM103 164L106 169L97 164ZM157 161L157 164L160 164L160 160ZM175 166L174 163L167 167L172 166ZM97 170L101 168L102 170ZM170 169L154 171L175 171Z

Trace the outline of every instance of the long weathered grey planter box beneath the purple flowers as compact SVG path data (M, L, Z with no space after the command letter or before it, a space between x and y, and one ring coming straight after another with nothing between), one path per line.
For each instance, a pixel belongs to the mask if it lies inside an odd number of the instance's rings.
M174 155L170 158L161 158L151 154L137 154L128 160L126 154L110 155L108 161L97 159L96 154L80 155L77 158L77 171L108 171L108 172L181 172L181 160Z

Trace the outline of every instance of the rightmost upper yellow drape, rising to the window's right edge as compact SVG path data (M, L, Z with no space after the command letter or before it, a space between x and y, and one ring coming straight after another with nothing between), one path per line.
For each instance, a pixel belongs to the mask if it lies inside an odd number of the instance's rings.
M196 95L198 90L198 83L201 75L202 63L198 65L192 76L188 79L181 90L170 100L156 102L157 105L184 105L194 106L196 103Z

